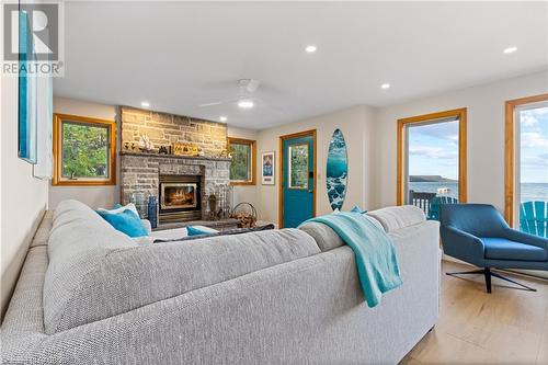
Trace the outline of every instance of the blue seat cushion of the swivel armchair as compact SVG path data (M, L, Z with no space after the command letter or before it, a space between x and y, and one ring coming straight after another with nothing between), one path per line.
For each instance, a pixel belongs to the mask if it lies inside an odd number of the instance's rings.
M536 246L511 241L505 238L481 238L486 259L548 261L548 251Z

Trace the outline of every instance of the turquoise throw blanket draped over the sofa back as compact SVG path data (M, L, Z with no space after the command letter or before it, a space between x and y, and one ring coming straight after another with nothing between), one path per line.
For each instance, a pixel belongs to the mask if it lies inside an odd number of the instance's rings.
M383 293L401 285L398 256L392 240L359 213L341 212L308 219L331 227L352 248L357 274L368 307L380 303Z

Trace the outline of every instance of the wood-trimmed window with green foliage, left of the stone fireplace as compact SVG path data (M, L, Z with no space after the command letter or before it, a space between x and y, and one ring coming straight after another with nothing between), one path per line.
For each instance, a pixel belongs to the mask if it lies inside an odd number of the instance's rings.
M53 185L115 185L116 123L54 114Z

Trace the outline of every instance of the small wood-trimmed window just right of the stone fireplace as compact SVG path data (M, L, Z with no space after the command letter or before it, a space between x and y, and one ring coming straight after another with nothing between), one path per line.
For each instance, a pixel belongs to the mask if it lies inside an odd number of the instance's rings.
M228 138L230 163L230 184L254 185L256 176L256 141L243 138Z

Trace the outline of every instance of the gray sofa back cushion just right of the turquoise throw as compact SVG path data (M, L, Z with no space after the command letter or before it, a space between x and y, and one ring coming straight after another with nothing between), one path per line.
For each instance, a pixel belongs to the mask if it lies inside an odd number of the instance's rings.
M369 212L367 215L377 219L386 232L418 225L426 220L424 212L413 205L390 206Z

